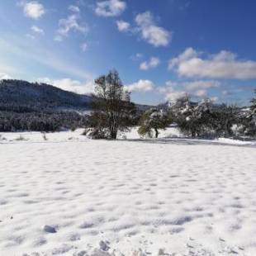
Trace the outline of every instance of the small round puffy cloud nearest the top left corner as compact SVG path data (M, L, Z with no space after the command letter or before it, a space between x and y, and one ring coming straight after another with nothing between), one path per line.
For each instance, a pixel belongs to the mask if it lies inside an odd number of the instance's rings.
M23 7L23 12L26 17L32 19L39 19L45 14L45 7L37 1L20 2L20 6Z

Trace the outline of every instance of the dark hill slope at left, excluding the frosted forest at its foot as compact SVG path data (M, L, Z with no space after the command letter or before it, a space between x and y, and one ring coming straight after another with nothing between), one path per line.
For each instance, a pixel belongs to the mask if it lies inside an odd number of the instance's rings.
M43 111L61 107L90 109L90 102L90 96L67 92L45 83L0 81L0 111Z

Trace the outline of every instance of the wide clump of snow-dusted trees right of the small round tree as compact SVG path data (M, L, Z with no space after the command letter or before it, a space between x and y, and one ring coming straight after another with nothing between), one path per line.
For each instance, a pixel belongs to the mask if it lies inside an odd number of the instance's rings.
M205 99L191 102L178 99L171 107L173 120L185 135L215 137L254 137L256 112L254 107L242 109L236 105L213 104Z

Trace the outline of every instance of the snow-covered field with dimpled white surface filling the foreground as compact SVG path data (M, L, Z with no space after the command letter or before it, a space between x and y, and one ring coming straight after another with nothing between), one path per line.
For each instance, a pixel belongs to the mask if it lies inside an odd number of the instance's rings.
M0 255L256 255L254 142L0 139Z

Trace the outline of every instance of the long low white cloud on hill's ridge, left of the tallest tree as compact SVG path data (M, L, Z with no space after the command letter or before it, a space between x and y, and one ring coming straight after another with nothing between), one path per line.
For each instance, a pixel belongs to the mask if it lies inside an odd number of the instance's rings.
M79 94L90 94L94 92L94 88L95 88L95 85L93 82L81 83L78 80L72 80L70 78L63 78L63 79L39 78L36 81L39 83L48 83L57 88L61 88L65 91L76 92Z

